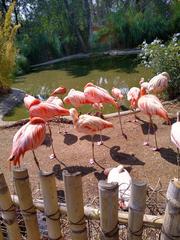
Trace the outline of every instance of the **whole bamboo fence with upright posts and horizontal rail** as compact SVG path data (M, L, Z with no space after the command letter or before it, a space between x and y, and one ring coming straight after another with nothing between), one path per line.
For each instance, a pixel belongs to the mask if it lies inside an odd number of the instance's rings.
M20 239L72 239L72 240L140 240L147 228L158 229L161 240L180 239L180 182L173 179L166 194L166 210L163 216L145 214L147 185L144 182L132 182L129 211L118 210L118 185L99 181L99 208L84 206L82 178L80 172L63 172L65 200L57 198L55 176L53 172L39 172L43 199L32 198L27 169L13 170L15 195L10 195L3 173L0 174L0 240ZM24 223L24 232L19 224L20 212ZM44 237L40 230L38 213L43 213L47 229ZM63 232L63 216L68 221L69 236ZM89 221L98 221L96 238L90 238ZM119 233L126 227L127 238ZM152 238L153 239L153 238ZM154 238L155 239L155 238Z

